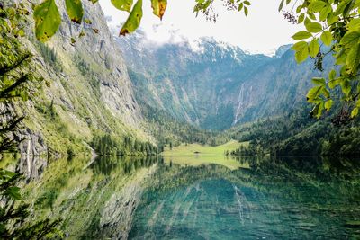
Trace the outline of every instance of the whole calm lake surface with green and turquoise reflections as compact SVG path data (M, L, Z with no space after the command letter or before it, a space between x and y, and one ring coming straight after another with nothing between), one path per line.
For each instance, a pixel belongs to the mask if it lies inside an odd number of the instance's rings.
M42 216L65 219L70 239L360 239L357 160L229 159L246 166L236 170L154 157L63 161L31 194Z

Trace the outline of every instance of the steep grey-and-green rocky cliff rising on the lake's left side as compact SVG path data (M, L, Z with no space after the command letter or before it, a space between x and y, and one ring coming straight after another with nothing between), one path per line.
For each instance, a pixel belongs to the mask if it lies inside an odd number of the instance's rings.
M65 1L57 1L63 21L46 44L34 39L33 21L29 19L29 40L23 40L24 47L33 55L35 74L45 79L37 95L17 108L27 116L18 134L23 139L20 151L31 156L20 161L19 169L30 177L37 174L31 170L38 165L31 163L33 156L85 151L94 132L149 138L121 50L103 11L99 4L82 2L85 18L93 23L79 26L70 22ZM79 38L82 31L85 36ZM71 38L76 39L75 44Z

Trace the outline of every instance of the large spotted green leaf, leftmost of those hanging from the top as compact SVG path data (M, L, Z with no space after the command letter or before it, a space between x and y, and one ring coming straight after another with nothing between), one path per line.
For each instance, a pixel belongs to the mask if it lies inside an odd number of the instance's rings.
M35 7L33 18L35 20L36 39L42 42L49 40L57 31L61 23L60 13L55 0L45 0Z

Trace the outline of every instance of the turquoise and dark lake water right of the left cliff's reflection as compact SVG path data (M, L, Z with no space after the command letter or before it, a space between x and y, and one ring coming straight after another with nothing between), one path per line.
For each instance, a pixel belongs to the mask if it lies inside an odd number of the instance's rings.
M130 239L360 239L358 180L346 160L257 159L236 171L162 165Z

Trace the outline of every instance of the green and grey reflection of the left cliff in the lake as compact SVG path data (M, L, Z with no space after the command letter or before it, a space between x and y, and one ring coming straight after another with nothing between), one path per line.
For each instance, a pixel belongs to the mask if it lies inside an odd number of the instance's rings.
M68 239L127 236L143 182L157 163L161 157L58 159L26 186L24 199L32 204L32 218L64 219L60 228Z

